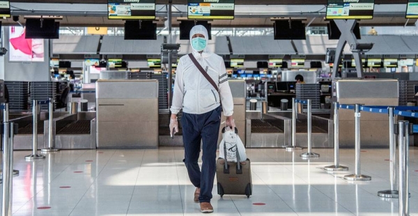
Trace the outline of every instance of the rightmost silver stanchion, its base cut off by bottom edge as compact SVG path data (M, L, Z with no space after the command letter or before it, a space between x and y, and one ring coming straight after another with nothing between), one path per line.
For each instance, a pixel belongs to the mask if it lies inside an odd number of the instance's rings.
M412 128L412 127L411 127ZM408 121L398 121L399 144L399 215L409 216L409 135Z

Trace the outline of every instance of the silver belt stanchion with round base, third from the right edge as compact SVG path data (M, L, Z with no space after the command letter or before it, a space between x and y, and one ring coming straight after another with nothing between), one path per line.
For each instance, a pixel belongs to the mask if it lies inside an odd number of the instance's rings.
M346 180L371 180L360 174L360 105L355 105L355 173L344 176Z

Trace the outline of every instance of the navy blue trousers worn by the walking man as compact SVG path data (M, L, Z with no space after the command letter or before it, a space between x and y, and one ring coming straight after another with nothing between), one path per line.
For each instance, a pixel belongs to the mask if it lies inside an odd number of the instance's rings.
M216 151L221 121L221 107L205 114L183 113L183 144L185 145L185 165L189 178L195 187L200 187L199 202L212 199L213 181L216 173ZM202 170L197 161L202 146Z

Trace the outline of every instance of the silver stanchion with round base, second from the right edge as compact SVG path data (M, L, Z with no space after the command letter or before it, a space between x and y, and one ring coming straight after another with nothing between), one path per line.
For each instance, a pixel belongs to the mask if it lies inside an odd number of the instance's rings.
M389 111L389 178L390 190L378 192L378 196L387 198L398 198L398 188L396 184L396 137L395 137L395 116L394 107L387 107ZM396 132L398 134L398 132Z

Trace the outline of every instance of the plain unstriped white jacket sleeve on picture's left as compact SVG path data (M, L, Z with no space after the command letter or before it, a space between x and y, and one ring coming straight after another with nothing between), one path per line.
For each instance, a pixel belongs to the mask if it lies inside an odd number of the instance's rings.
M180 109L183 108L184 89L185 86L183 82L183 61L179 61L176 70L176 79L174 80L173 102L171 103L170 109L171 114L178 114Z

